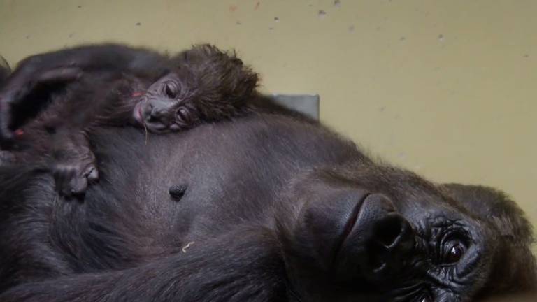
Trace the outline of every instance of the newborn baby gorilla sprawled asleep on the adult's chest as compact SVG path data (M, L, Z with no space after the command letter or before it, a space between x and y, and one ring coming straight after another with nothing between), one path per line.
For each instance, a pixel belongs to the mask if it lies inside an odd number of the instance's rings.
M173 58L122 45L59 50L24 60L8 79L0 138L15 161L50 166L59 192L81 194L98 178L86 139L92 127L134 124L164 133L228 119L245 111L256 85L240 59L211 45Z

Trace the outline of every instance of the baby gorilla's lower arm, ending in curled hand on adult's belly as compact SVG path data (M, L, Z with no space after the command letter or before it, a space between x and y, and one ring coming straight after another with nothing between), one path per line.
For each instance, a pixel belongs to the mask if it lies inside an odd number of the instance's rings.
M85 73L69 85L66 92L54 96L48 108L24 125L13 141L15 161L37 162L54 175L57 191L64 196L81 195L90 182L99 178L96 159L86 134L106 122L103 116L115 108L114 120L126 124L118 104L127 99L133 84L115 74ZM108 87L106 87L108 85ZM128 94L130 98L130 94ZM124 103L132 111L129 103Z

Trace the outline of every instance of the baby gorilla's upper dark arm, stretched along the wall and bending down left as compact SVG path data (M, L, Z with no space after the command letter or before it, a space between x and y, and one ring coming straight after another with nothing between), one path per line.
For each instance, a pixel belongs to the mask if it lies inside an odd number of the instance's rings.
M162 73L169 58L152 50L124 45L87 45L24 59L0 89L0 142L45 110L50 96L76 82L83 73L132 73L145 77ZM40 93L36 96L36 91Z

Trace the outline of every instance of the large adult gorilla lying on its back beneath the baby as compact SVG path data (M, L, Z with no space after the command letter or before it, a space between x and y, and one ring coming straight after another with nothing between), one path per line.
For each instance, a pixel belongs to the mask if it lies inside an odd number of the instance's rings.
M437 185L318 124L99 128L102 181L0 168L0 301L475 301L536 287L505 195ZM182 198L168 194L187 187Z

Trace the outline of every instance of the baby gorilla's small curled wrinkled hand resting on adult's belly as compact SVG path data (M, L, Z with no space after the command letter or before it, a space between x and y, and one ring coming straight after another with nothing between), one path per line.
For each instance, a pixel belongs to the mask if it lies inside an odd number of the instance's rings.
M88 185L99 179L99 171L93 156L58 162L53 166L52 173L57 192L67 198L83 196Z

